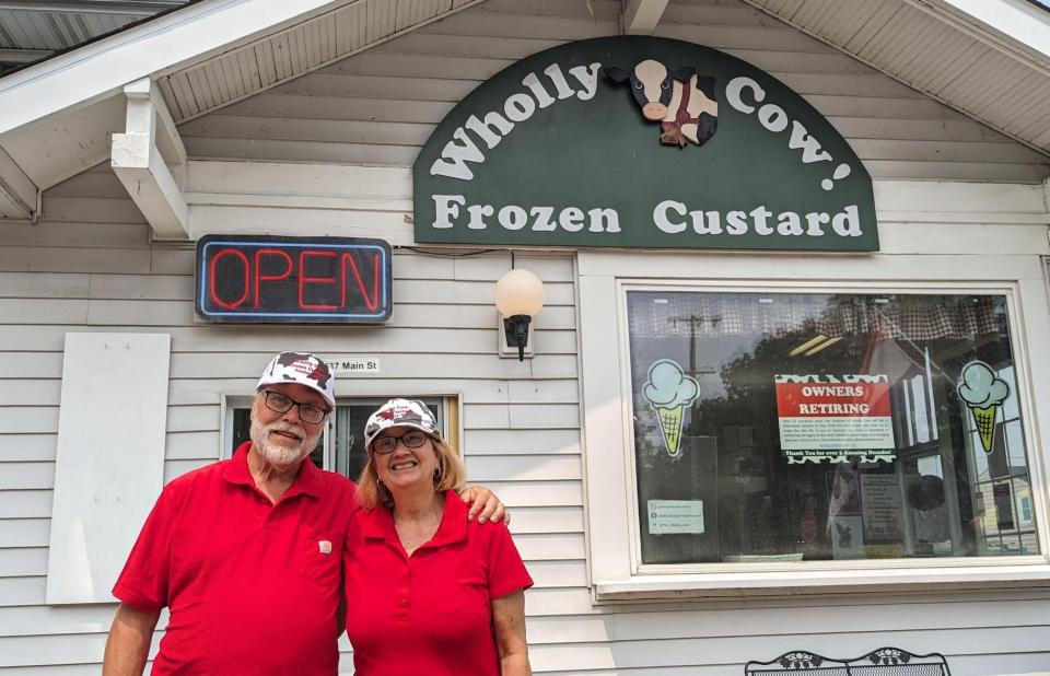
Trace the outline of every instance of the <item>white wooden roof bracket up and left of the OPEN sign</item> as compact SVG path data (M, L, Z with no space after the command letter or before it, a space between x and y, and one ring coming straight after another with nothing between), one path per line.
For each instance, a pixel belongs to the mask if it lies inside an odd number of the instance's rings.
M124 133L113 135L110 164L156 240L186 240L183 195L186 149L160 91L149 78L124 88L128 98Z

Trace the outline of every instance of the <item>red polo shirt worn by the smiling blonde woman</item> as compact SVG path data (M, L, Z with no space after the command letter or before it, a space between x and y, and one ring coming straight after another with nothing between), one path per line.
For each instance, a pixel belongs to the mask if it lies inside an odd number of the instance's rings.
M355 521L345 552L355 673L497 676L492 599L533 585L506 526L467 522L447 491L438 533L408 557L388 510Z

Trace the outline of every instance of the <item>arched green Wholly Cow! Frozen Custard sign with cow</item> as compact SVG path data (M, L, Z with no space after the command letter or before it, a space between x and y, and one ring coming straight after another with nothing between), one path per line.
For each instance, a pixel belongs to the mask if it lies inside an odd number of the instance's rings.
M692 43L604 37L508 67L413 167L416 241L878 249L872 180L782 82Z

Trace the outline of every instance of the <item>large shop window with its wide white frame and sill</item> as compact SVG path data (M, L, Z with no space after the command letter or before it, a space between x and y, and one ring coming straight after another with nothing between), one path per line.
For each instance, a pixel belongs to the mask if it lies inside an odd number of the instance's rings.
M1050 581L1050 325L1015 264L654 258L580 254L597 602Z

